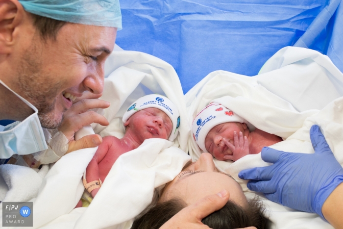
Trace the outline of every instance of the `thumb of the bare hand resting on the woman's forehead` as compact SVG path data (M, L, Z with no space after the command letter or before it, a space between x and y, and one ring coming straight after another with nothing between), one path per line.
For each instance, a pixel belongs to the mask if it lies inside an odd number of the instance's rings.
M195 220L202 220L209 214L221 209L229 200L230 194L225 189L218 194L213 194L202 198L196 204L192 204L181 211L191 214ZM187 209L188 208L188 209Z

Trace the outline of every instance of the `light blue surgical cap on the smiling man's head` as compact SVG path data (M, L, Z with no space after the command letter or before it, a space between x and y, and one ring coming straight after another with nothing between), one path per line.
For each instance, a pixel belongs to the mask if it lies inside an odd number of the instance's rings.
M119 0L19 0L25 11L55 20L122 29Z

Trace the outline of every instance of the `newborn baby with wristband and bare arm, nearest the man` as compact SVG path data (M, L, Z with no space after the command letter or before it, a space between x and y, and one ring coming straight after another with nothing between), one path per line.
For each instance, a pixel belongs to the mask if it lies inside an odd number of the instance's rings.
M168 98L147 95L134 102L123 115L122 139L106 136L86 169L83 184L93 197L97 195L112 165L123 153L138 148L148 138L173 141L180 125L179 112ZM87 198L88 199L88 198Z

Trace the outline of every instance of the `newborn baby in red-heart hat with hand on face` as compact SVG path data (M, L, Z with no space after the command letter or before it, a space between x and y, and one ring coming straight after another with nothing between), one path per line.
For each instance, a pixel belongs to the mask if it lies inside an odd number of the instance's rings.
M196 115L192 131L199 148L221 161L236 161L282 141L279 136L253 127L216 102L210 103Z

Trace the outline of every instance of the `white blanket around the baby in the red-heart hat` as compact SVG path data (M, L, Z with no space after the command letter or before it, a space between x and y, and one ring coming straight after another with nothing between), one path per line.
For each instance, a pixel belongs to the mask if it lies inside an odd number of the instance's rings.
M237 113L255 127L281 136L285 141L274 149L313 153L309 130L321 127L330 148L343 165L343 74L317 51L287 47L278 51L260 75L241 76L216 71L201 80L186 95L189 121L209 102L215 101ZM335 100L334 102L332 102ZM189 137L190 155L200 150ZM243 169L267 166L260 153L236 162L218 161L216 166L238 180L246 195L246 181L238 178ZM265 199L275 228L332 228L317 214L298 212Z

